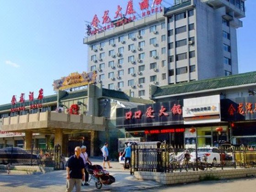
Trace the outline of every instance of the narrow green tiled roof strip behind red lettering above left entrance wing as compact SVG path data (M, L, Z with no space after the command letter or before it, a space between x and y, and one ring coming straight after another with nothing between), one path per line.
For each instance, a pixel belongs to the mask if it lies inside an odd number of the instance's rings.
M21 104L20 102L16 103L16 107L20 107L20 106L29 106L30 104L38 104L41 100L37 100L35 99L34 101L28 101L26 100L24 104ZM49 103L49 102L57 102L57 95L51 95L51 96L44 96L43 97L43 103ZM13 106L10 104L5 104L5 105L0 105L0 111L4 111L4 110L9 110L11 109Z

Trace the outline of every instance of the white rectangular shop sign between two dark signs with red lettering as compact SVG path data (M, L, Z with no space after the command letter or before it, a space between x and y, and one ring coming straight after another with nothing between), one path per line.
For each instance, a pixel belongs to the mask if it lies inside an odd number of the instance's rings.
M220 97L205 96L184 99L184 124L220 122Z

